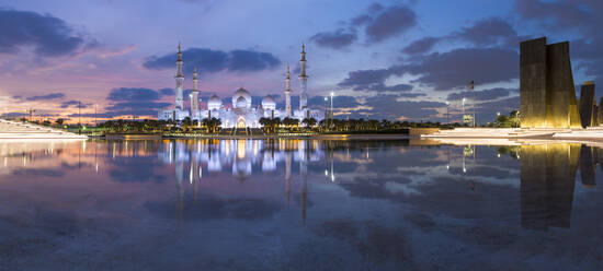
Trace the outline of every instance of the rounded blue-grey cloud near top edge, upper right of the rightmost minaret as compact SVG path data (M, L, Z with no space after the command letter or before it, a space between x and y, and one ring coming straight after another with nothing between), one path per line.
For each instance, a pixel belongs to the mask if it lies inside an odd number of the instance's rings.
M367 23L365 33L369 43L379 43L417 25L417 14L405 5L392 5Z

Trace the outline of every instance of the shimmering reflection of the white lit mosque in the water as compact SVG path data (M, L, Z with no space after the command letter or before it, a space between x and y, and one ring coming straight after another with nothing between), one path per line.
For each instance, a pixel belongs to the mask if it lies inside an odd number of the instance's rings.
M286 182L286 204L291 200L292 166L298 163L300 185L302 224L306 225L308 162L320 161L323 156L319 141L307 140L190 140L167 141L163 152L158 152L164 163L175 164L178 189L178 217L182 219L183 186L186 179L193 185L193 200L197 198L197 186L203 177L203 168L212 172L231 173L239 179L252 174L252 168L263 173L275 172L277 164L284 163ZM185 167L189 166L186 170ZM187 176L186 176L187 175Z

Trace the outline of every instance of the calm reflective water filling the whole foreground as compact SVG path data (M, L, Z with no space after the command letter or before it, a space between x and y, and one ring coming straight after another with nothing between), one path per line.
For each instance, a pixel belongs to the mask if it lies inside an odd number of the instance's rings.
M569 143L0 142L0 270L603 270L601 167Z

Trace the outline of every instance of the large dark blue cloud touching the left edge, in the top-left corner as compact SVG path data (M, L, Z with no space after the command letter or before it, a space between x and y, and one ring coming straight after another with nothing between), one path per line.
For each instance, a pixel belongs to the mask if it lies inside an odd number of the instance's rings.
M86 43L82 34L50 14L0 9L0 52L15 54L23 46L33 46L38 57L60 57Z

